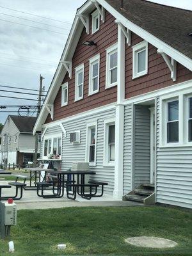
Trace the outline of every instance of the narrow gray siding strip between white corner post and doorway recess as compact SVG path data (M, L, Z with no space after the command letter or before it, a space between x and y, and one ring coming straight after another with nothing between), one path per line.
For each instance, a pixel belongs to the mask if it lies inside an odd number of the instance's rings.
M124 195L132 190L132 120L133 105L124 111Z

